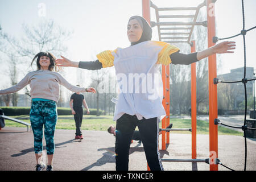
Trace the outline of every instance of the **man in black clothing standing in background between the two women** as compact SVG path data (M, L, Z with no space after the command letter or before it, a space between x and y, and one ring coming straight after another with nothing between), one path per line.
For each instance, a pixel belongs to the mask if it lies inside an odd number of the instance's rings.
M76 85L79 86L79 85ZM83 139L81 125L82 125L82 104L84 104L85 109L87 110L87 114L90 113L84 96L80 92L73 93L69 106L71 107L72 114L74 114L74 119L76 122L76 137L75 139Z

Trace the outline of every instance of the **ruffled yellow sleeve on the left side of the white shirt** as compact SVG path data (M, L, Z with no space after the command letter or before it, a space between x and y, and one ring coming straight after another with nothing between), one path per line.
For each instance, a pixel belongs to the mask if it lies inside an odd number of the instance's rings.
M114 65L114 56L112 52L117 52L117 49L114 51L103 51L97 55L98 60L102 64L102 68L113 67Z

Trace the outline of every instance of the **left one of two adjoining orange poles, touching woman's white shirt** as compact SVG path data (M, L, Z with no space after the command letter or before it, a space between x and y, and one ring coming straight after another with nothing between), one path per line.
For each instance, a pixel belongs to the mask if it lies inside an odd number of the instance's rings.
M167 110L166 108L166 102L167 102L167 96L166 96L166 66L162 65L162 80L163 80L163 107L164 110ZM167 114L167 111L166 111ZM166 115L167 116L167 115ZM162 129L166 128L166 119L167 117L164 117L162 119ZM162 131L162 150L166 150L166 131Z

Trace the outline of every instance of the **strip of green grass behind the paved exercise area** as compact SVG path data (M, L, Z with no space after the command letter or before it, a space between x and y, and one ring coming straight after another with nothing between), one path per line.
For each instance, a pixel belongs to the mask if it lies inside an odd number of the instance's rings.
M14 118L29 118L28 115L19 115L13 116ZM30 123L29 119L22 119L22 121ZM180 119L180 118L171 118L171 123L173 123L174 129L186 129L191 127L191 119ZM20 123L9 121L5 119L6 127L26 127ZM82 130L98 130L106 131L110 125L115 126L115 121L113 121L113 115L84 115L82 120ZM162 123L160 123L160 127ZM60 115L57 121L56 129L67 129L75 130L75 120L73 115ZM180 134L191 134L189 131L171 131L172 133ZM209 134L209 123L208 121L197 120L197 134ZM242 136L243 133L228 129L226 127L218 126L219 135L238 135Z

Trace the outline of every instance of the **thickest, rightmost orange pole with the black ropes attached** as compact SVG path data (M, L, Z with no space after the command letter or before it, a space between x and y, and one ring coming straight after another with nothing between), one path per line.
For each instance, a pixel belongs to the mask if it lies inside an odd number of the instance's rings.
M208 22L208 47L214 46L212 41L216 35L214 3L207 0L207 22ZM214 125L214 119L218 117L217 85L213 84L213 78L217 77L216 54L208 57L209 75L209 138L210 138L210 171L217 171L218 165L214 164L218 158L218 127Z

